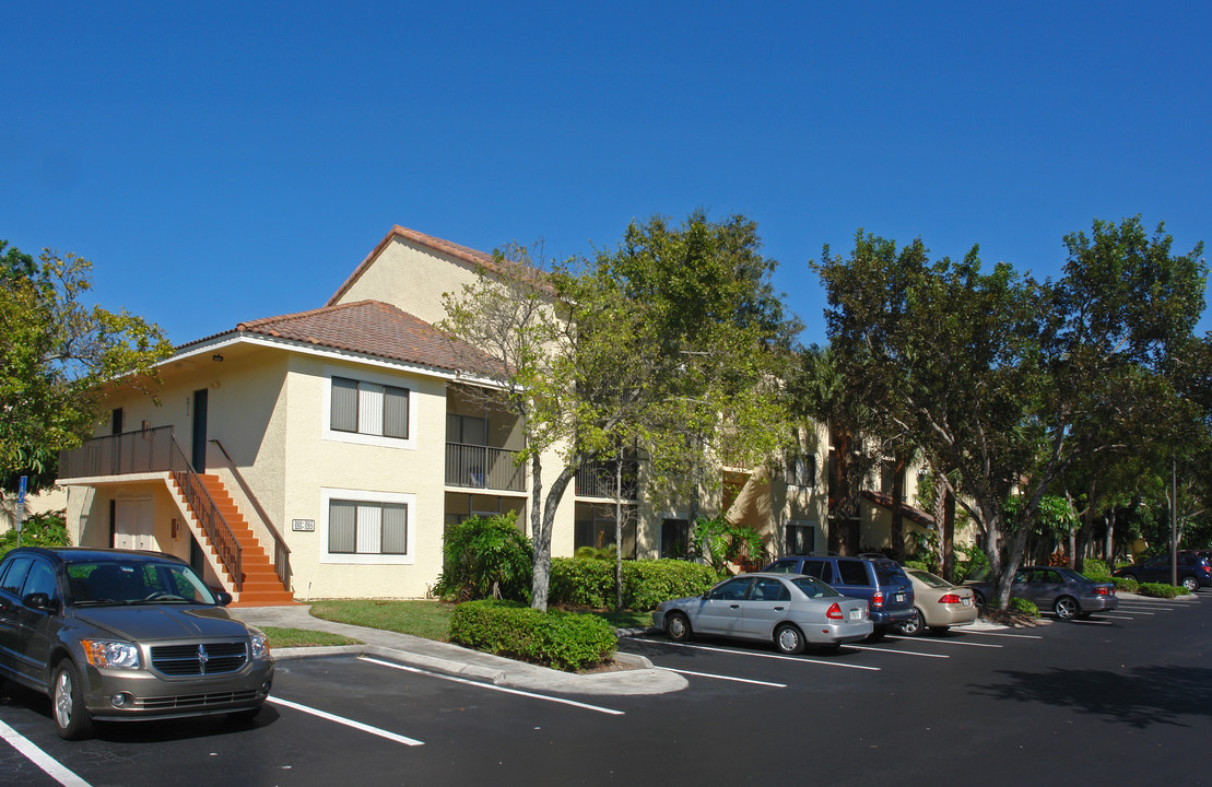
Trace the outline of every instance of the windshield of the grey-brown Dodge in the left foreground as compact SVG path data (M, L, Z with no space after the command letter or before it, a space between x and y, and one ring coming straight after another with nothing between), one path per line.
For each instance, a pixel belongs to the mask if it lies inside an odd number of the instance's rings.
M188 565L138 560L87 560L67 566L72 603L215 604Z

